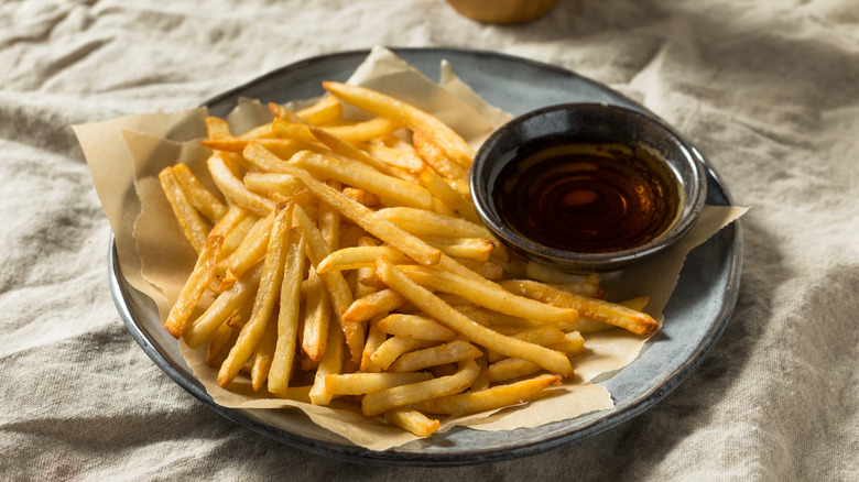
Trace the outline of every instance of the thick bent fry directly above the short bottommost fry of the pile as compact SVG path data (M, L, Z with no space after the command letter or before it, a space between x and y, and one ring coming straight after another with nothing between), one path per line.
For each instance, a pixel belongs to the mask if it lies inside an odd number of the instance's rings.
M372 417L428 398L459 393L471 385L479 372L474 360L459 362L459 371L453 375L368 393L361 401L361 412Z

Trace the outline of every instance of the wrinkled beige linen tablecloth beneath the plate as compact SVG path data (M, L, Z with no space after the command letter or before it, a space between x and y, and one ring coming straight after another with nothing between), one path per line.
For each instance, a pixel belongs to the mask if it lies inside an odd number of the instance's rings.
M615 429L487 465L385 468L222 418L131 338L70 129L195 107L280 66L387 46L492 50L605 83L671 122L742 219L733 316ZM859 479L859 3L562 0L499 26L441 0L0 3L0 479Z

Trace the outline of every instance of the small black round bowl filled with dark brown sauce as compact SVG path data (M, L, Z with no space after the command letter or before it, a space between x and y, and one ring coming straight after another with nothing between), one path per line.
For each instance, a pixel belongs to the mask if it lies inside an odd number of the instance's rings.
M670 127L601 103L551 106L502 125L478 151L470 185L501 241L568 272L663 253L695 223L707 188Z

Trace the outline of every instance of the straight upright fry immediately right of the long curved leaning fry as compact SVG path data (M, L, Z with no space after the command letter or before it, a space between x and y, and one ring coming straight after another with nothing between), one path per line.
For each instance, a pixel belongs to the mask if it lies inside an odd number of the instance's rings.
M292 218L292 213L290 213ZM280 311L278 313L278 342L271 370L269 392L285 394L290 384L295 348L298 340L298 314L301 307L302 280L304 278L304 232L292 228L289 233L283 283L281 283Z

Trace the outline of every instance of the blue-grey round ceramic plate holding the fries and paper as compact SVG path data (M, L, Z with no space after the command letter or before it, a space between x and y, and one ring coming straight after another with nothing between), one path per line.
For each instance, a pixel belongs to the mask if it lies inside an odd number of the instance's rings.
M405 48L394 52L411 65L438 78L447 59L456 74L486 101L512 114L562 102L606 102L640 110L606 86L569 70L492 52L445 48ZM346 52L289 65L210 100L215 116L226 116L239 97L285 102L323 94L322 80L345 80L368 52ZM699 155L699 154L698 154ZM708 166L711 205L730 205L730 195ZM298 410L231 409L216 405L197 382L176 341L161 328L154 303L131 287L110 243L110 284L119 313L131 335L167 375L228 419L285 445L314 453L361 463L401 465L461 465L534 454L580 441L629 420L675 388L704 360L725 329L739 289L742 237L738 222L693 250L665 307L666 322L633 363L600 384L615 398L615 408L536 428L505 432L467 428L382 451L351 445L314 425ZM154 394L153 394L154 396ZM285 414L285 415L284 415ZM275 424L274 417L280 420ZM289 428L283 427L283 417Z

